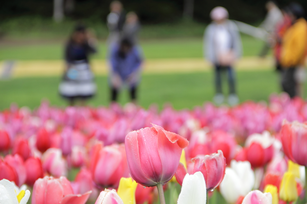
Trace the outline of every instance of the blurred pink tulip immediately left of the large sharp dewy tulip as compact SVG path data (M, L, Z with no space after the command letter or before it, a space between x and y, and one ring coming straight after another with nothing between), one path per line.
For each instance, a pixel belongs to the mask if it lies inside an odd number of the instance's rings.
M97 143L91 155L91 173L97 185L118 187L120 178L128 176L124 146L102 147L101 143Z

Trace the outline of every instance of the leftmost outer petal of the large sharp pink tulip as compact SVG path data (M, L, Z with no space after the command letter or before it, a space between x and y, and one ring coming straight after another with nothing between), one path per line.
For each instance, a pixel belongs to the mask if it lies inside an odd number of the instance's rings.
M145 176L142 171L138 147L138 133L136 131L129 132L125 138L125 148L130 174L135 181L143 186L155 186L157 183Z

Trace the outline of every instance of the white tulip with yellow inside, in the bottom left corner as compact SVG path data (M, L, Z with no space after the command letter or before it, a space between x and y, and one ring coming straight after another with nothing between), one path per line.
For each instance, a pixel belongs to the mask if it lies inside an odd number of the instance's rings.
M29 190L14 191L14 184L9 180L0 180L0 203L5 204L26 204L30 197Z

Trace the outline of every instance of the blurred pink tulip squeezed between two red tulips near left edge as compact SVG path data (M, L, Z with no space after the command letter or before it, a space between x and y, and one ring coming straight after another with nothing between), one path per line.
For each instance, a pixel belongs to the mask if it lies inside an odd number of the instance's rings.
M12 156L9 154L4 158L3 161L6 162L11 167L13 167L14 170L16 171L17 175L17 182L15 182L16 185L20 187L22 184L24 184L27 178L27 173L25 169L25 164L21 156L19 156L18 154Z

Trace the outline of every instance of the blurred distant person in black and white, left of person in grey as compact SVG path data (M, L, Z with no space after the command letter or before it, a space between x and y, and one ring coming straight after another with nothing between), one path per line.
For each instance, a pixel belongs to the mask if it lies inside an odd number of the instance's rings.
M126 12L123 9L120 1L112 1L110 4L110 13L107 16L107 26L109 28L109 36L107 44L118 43L120 33L125 24Z

